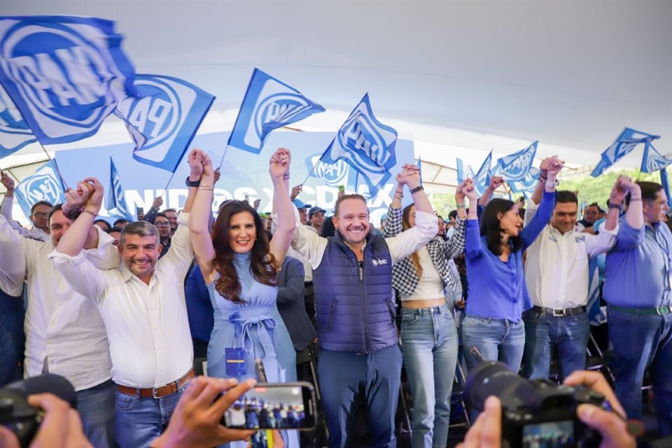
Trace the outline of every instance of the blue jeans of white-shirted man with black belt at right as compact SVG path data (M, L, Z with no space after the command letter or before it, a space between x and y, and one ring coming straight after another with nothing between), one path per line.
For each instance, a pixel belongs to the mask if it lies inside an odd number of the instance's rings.
M588 313L554 317L530 309L525 322L525 366L529 379L548 378L553 352L557 351L562 377L586 368L586 349L590 335Z

